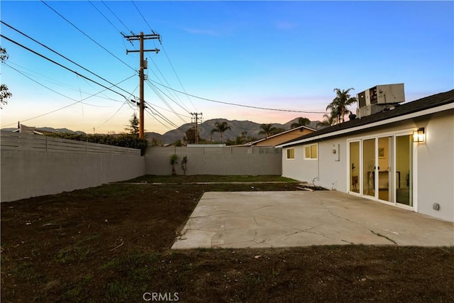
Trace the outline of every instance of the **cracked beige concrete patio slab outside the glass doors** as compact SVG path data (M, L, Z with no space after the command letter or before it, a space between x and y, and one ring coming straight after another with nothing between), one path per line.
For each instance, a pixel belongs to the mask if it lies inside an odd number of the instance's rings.
M332 191L206 192L172 248L453 246L454 224Z

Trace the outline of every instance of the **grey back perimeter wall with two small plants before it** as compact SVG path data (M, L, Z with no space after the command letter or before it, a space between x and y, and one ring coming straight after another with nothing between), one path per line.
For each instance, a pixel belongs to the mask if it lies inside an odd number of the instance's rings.
M148 175L171 175L170 156L178 156L177 175L183 175L181 160L187 156L186 175L281 175L282 150L259 147L155 147L145 155Z

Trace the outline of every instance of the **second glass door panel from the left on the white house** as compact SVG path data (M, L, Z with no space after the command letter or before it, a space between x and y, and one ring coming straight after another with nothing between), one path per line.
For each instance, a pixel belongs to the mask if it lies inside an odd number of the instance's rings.
M362 194L375 197L375 138L362 141Z

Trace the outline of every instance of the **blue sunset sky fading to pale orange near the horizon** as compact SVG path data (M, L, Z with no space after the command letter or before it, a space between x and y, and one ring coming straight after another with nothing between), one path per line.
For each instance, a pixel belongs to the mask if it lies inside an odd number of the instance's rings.
M9 55L1 84L13 94L0 110L1 128L21 121L86 133L125 131L138 114L131 100L139 95L139 55L126 50L139 44L123 34L140 32L160 35L145 40L145 49L160 50L145 53L150 132L190 123L191 113L202 113L203 121L322 120L335 88L354 88L355 97L377 84L404 83L406 101L413 101L454 87L453 1L0 5L7 24L1 24L1 47Z

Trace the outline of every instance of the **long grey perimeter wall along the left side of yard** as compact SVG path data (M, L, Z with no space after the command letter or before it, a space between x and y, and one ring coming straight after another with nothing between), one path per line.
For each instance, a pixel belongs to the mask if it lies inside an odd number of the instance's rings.
M145 175L145 157L1 149L1 202Z

